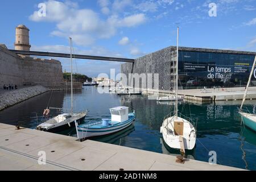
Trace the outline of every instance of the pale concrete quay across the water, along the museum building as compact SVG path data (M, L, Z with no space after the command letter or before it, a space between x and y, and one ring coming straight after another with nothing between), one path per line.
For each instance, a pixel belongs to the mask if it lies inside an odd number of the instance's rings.
M156 93L160 96L173 95L169 90L143 90L144 93ZM178 94L185 96L186 100L199 102L212 101L237 101L242 100L245 88L216 88L216 89L184 89L179 90ZM256 87L250 87L247 92L246 100L256 100ZM241 104L241 103L240 103Z

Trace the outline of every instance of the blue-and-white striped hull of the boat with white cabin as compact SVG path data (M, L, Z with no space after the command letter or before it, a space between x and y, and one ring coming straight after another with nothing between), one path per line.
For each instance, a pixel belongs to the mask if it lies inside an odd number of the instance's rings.
M129 120L127 120L126 122L120 123L116 126L113 125L110 127L102 127L98 129L92 127L79 126L76 123L77 138L84 139L117 133L118 131L121 131L129 127L133 123L134 119L135 115L133 117L130 117Z

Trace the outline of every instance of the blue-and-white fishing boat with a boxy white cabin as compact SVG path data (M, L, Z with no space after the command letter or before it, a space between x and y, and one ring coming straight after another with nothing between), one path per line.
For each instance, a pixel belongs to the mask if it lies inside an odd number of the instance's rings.
M90 122L79 125L76 122L77 138L84 139L108 135L129 127L135 119L135 111L129 113L129 107L114 107L110 109L111 119Z

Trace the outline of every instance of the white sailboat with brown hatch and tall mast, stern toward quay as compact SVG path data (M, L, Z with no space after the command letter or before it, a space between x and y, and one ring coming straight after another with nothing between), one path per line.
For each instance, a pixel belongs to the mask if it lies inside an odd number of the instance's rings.
M196 129L192 125L192 120L184 115L178 116L178 59L179 59L179 27L177 27L177 61L176 61L176 101L175 111L164 117L160 133L163 135L164 142L171 148L181 150L192 150L196 144Z

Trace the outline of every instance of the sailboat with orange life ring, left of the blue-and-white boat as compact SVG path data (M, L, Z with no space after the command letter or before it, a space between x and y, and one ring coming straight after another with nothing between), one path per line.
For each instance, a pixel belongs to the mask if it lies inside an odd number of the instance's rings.
M56 117L48 119L36 127L37 130L59 132L72 127L75 127L75 121L82 122L86 117L87 111L73 113L73 68L72 68L72 38L69 38L71 46L71 112L59 114ZM67 110L62 108L49 107L44 110L44 117L48 117L50 109Z

